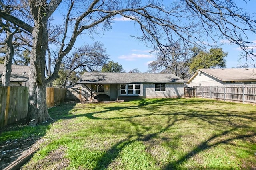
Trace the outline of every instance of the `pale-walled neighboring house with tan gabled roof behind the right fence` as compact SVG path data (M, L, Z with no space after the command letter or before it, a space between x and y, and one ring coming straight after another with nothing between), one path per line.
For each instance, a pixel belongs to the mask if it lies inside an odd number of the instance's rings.
M228 84L256 84L256 69L199 69L187 82L189 87L220 86Z

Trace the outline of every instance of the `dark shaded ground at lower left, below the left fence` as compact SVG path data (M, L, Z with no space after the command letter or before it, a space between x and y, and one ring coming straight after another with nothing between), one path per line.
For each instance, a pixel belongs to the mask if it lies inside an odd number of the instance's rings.
M25 122L25 121L24 121ZM35 127L14 123L0 131L0 169L9 166L46 134L49 123Z

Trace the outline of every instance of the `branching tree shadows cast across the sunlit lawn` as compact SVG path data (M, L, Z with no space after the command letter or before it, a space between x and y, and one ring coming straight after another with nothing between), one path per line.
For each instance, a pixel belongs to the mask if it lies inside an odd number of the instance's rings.
M216 108L210 109L207 107L197 107L196 105L206 105L207 104L213 104L216 102ZM100 158L97 159L96 165L94 169L104 169L107 168L111 162L120 154L122 149L126 147L127 145L135 142L135 141L149 141L150 139L153 139L155 137L158 137L159 134L164 133L170 127L172 127L175 123L179 121L184 120L190 120L193 119L193 121L196 121L196 123L200 124L200 122L207 122L210 125L215 125L218 127L218 131L220 133L213 134L212 136L208 137L208 139L202 141L197 147L190 150L188 153L184 154L178 160L172 161L167 163L162 167L163 170L169 170L169 169L177 169L180 168L180 165L188 160L189 158L195 156L196 154L203 152L204 150L208 150L212 147L215 147L220 144L226 144L230 143L231 141L234 141L236 139L246 139L249 140L250 138L253 138L256 136L255 129L248 132L247 134L239 134L239 129L247 129L250 128L248 124L250 121L255 121L256 116L254 112L244 112L243 114L239 113L238 111L229 111L228 109L224 110L221 108L218 108L218 101L215 100L174 100L174 99L152 99L152 100L136 100L131 102L131 106L129 105L118 105L116 107L104 107L104 111L98 111L98 112L92 112L92 113L85 113L85 114L73 114L71 113L71 109L74 107L74 105L70 106L63 106L66 107L66 110L60 111L58 108L56 110L52 110L53 117L57 117L58 119L71 119L75 117L87 117L88 119L94 119L94 120L113 120L113 119L125 119L126 121L129 121L131 126L135 127L136 129L136 135L130 135L128 139L124 139L115 145L112 145L112 147L105 152ZM233 103L230 103L230 105L233 105ZM62 107L62 108L63 108ZM174 109L172 112L165 111L164 107L172 107ZM77 108L79 109L79 107ZM147 110L149 111L148 114L136 114L132 116L120 116L120 117L111 117L111 118L100 118L97 117L97 115L100 115L101 113L106 113L108 111L120 111L122 112L123 109L133 109L136 110L137 113L140 112L140 110ZM149 133L144 134L144 131L147 131L146 128L141 127L140 124L133 121L132 118L136 117L150 117L152 115L162 115L162 116L169 116L168 122L166 123L165 127L162 127L162 129L159 129L156 133ZM230 127L230 129L222 130L223 128L226 128L227 126ZM140 128L144 128L144 131L141 131ZM164 139L163 139L164 140ZM251 141L253 143L253 141ZM250 168L250 167L249 167Z

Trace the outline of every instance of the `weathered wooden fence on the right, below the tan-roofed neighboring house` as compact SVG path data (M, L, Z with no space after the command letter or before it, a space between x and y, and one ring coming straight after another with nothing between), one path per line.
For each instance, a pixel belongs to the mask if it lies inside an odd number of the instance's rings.
M256 104L256 85L197 86L195 96L230 102Z

